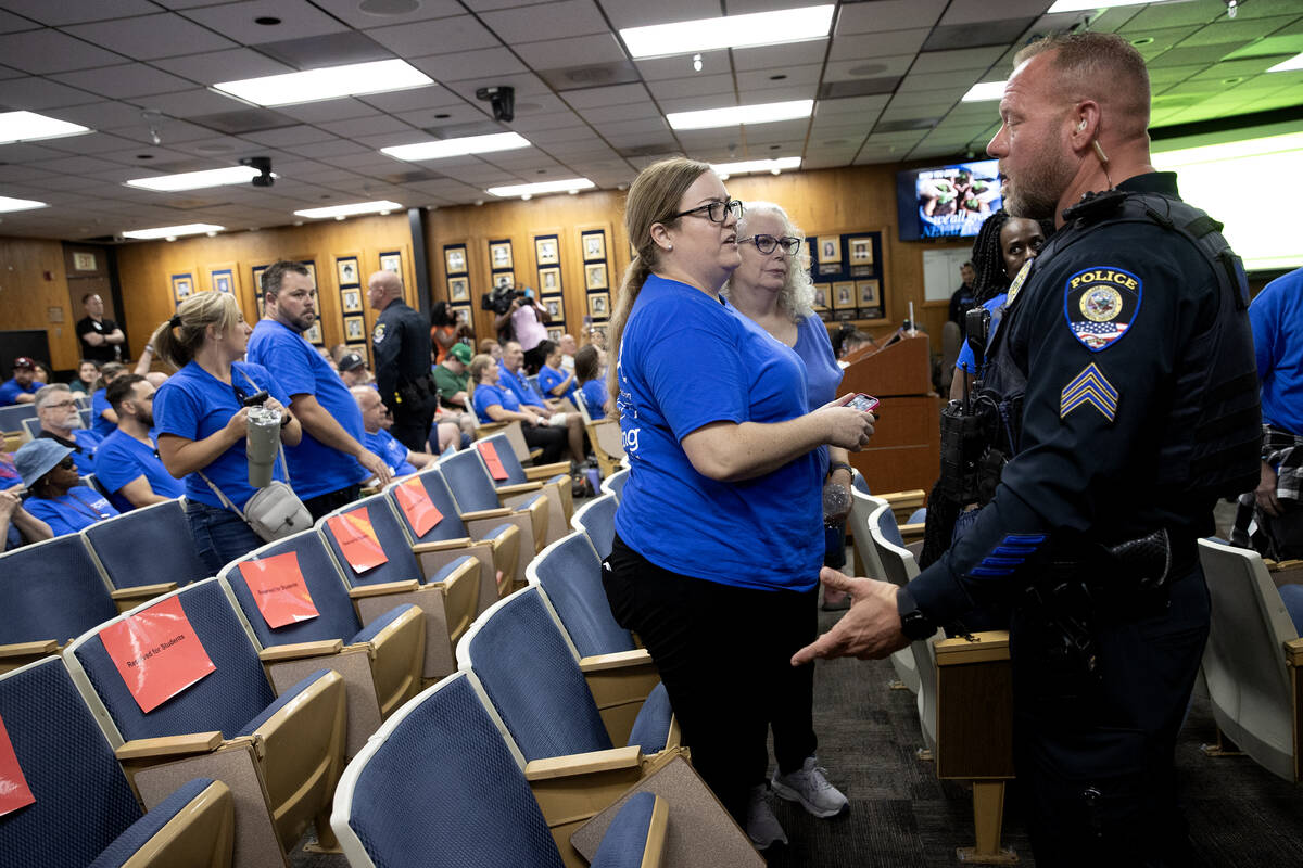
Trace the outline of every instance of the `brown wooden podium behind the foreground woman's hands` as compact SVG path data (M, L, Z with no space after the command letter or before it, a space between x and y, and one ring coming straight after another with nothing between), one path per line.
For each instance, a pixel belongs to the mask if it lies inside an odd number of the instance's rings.
M851 453L851 465L864 474L873 493L930 492L941 474L941 400L932 390L928 336L860 353L850 357L839 393L866 392L882 403L873 440Z

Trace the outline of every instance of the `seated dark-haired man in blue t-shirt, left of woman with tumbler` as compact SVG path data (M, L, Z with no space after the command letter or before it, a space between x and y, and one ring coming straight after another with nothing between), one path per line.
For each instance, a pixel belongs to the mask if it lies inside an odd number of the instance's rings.
M180 497L185 485L163 466L154 428L154 387L138 373L117 377L108 387L108 403L117 413L117 429L95 450L95 481L121 513Z

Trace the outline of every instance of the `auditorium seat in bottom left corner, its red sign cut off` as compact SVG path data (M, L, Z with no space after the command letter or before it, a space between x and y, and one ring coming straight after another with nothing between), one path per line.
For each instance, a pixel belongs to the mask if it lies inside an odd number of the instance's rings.
M229 868L227 785L186 781L143 813L61 658L0 675L0 721L34 799L0 816L0 864ZM7 776L7 786L18 783Z

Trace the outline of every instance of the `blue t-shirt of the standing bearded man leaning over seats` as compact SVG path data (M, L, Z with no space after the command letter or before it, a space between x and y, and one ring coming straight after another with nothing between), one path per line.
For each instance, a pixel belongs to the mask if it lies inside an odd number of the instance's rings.
M275 371L276 383L291 400L296 394L314 396L353 440L362 442L366 429L357 401L317 347L301 334L276 320L258 320L249 336L245 358ZM285 403L288 406L289 402ZM297 446L285 446L285 455L289 458L289 478L294 492L304 500L337 492L371 475L357 463L357 458L327 446L308 433L306 428Z

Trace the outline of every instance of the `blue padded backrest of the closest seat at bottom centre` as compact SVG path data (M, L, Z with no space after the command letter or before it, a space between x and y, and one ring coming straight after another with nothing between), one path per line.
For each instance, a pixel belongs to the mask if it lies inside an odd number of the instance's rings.
M470 679L413 700L357 778L348 825L377 865L562 868L538 802Z

